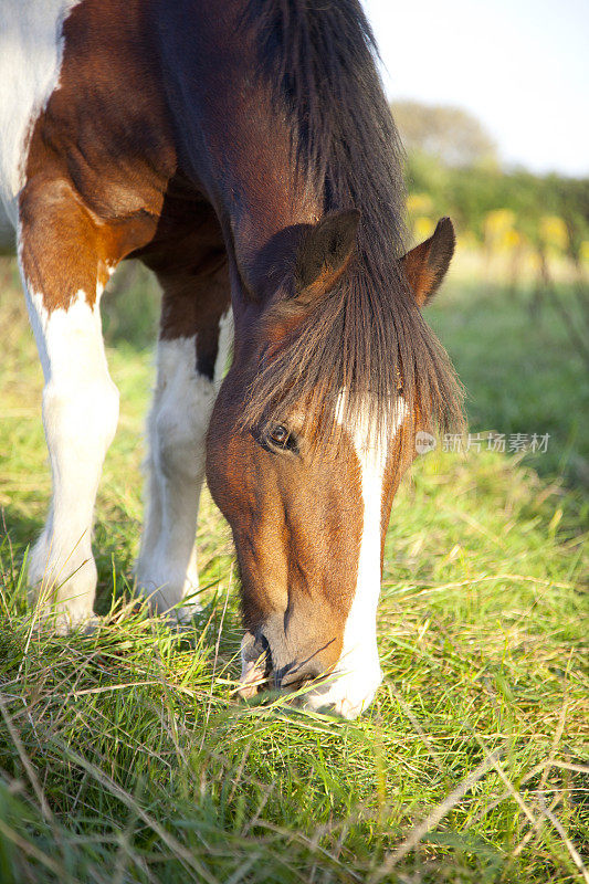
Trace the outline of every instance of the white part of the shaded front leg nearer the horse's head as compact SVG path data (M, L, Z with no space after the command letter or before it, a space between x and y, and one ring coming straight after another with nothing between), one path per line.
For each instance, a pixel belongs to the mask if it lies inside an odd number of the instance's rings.
M156 390L147 422L147 508L137 581L158 613L170 612L179 622L189 621L200 608L194 538L206 438L231 340L229 311L220 323L212 381L197 371L196 336L158 344Z

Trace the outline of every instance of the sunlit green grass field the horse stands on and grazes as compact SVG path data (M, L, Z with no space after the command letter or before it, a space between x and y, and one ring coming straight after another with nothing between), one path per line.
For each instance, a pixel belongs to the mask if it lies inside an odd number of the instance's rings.
M236 576L207 495L193 634L132 601L155 305L133 273L126 299L105 299L122 392L97 504L105 619L92 635L32 629L41 370L2 261L0 881L589 881L589 382L549 306L533 322L528 292L455 275L431 308L472 432L549 434L548 450L418 459L387 540L385 682L347 723L236 702Z

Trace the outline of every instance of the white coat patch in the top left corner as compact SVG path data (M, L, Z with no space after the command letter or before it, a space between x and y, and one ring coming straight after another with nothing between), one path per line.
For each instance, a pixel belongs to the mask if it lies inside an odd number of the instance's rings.
M0 199L17 227L29 139L60 85L63 22L80 0L2 0L0 10Z

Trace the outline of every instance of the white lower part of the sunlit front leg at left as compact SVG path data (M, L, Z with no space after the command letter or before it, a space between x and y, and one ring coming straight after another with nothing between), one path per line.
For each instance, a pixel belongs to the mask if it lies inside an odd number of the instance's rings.
M92 618L96 566L94 504L106 450L118 421L98 303L80 291L67 309L51 313L23 278L43 366L43 425L53 477L45 527L29 560L29 583L41 617L66 629Z

